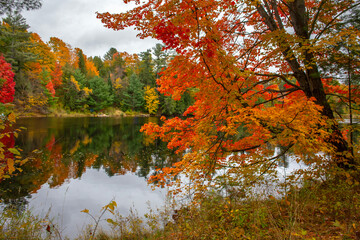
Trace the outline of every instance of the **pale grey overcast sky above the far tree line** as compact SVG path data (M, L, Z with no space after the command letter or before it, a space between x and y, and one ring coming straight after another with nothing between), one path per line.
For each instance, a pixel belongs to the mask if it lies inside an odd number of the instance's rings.
M89 56L104 56L111 48L128 53L140 53L157 43L154 39L136 38L132 29L114 31L105 28L95 12L119 13L132 8L122 0L43 0L39 10L24 11L22 15L31 32L40 35L44 42L58 37L78 47Z

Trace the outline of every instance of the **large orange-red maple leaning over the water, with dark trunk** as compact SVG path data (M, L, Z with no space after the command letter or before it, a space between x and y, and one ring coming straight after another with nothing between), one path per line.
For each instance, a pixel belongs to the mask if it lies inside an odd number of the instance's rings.
M188 118L144 128L169 147L192 150L162 175L182 171L201 188L210 182L204 179L219 179L213 174L223 169L228 178L241 182L240 176L250 170L261 176L274 168L289 151L322 168L335 162L342 169L355 169L319 63L327 58L324 50L337 41L339 32L334 30L340 16L359 3L126 2L138 6L98 18L115 30L136 27L139 37L156 38L176 50L178 55L158 80L160 92L179 100L189 88L197 90L196 102L184 113ZM330 154L332 161L320 160L318 152Z

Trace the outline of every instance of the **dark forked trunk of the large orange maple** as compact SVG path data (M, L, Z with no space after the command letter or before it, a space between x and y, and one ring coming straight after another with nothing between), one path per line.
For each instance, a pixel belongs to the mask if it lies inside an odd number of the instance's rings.
M303 39L303 42L305 43L309 39L310 35L308 32L308 18L306 16L307 13L305 8L305 1L289 1L288 8L290 12L290 20L293 25L295 34L300 39ZM263 22L267 25L269 30L271 32L283 30L281 27L283 24L279 22L281 20L276 19L271 12L267 12L265 9L266 8L263 5L259 4L257 6L257 11L263 18ZM355 159L351 155L348 143L342 136L339 125L334 118L333 110L331 109L330 104L326 99L324 86L321 81L320 72L318 70L314 54L309 52L309 50L304 50L302 65L307 67L307 70L304 71L302 70L300 61L293 53L290 44L286 39L282 39L283 40L278 42L278 46L284 49L282 53L286 62L293 71L293 76L298 81L306 96L309 98L315 98L316 104L323 107L321 112L322 115L333 121L330 129L328 129L328 131L331 132L331 137L328 139L328 142L334 147L334 160L336 161L336 164L344 169L354 168L353 166L355 165ZM300 47L303 46L303 43L300 42L299 44Z

